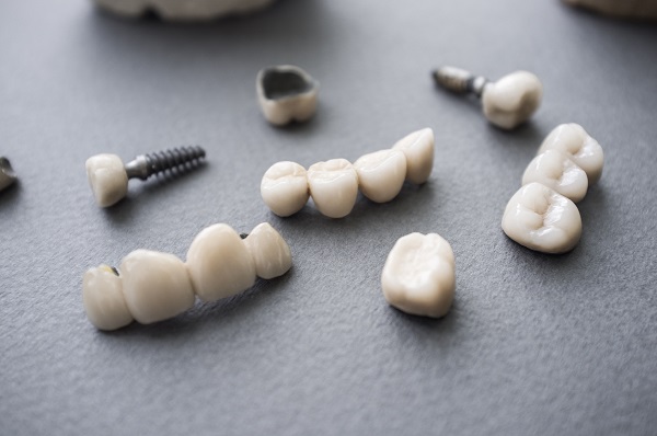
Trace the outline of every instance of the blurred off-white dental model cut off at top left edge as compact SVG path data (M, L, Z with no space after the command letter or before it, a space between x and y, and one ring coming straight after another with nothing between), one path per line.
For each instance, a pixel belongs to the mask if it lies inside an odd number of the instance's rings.
M163 20L206 21L257 11L273 0L94 0L110 12L136 18L153 10Z

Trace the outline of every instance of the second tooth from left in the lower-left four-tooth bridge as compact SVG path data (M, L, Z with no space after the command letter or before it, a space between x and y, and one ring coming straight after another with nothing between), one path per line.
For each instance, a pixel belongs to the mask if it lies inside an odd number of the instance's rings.
M173 254L136 250L120 263L128 310L142 324L173 318L196 297L185 264Z

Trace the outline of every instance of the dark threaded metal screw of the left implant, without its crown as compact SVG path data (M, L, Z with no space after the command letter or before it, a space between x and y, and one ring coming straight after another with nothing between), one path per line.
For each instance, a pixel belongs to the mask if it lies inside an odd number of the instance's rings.
M187 163L198 163L206 156L198 146L180 147L154 153L139 154L125 164L128 179L147 180L153 174L182 168Z

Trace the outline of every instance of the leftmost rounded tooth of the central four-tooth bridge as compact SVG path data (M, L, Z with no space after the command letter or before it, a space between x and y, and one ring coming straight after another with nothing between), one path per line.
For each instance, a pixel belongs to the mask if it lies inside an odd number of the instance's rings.
M263 175L261 195L267 207L279 217L298 213L310 196L306 169L289 161L273 164Z

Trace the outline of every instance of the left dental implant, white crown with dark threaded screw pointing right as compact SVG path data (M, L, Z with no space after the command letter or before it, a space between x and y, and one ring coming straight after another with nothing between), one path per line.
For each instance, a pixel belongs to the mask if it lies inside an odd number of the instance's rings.
M87 176L99 206L108 207L126 196L129 179L147 180L168 170L189 169L200 164L205 156L198 146L180 147L140 154L124 165L116 154L96 154L87 160Z

